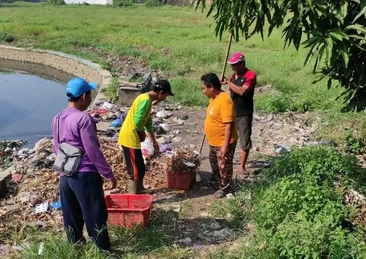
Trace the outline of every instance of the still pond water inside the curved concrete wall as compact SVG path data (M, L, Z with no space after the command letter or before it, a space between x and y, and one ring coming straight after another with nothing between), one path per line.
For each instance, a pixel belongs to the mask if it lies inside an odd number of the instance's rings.
M0 70L0 140L22 139L28 147L51 135L53 116L67 106L65 83L14 70Z

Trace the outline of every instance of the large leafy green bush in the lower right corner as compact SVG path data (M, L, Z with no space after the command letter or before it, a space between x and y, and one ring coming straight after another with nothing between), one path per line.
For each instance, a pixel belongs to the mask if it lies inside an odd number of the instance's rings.
M343 203L347 186L364 189L360 170L353 155L331 147L294 148L280 157L251 189L256 235L240 253L249 259L366 258L365 234L350 227L352 210Z

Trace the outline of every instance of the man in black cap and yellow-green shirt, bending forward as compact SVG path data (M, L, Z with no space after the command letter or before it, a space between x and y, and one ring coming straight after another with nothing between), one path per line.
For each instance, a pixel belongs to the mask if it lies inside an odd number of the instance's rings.
M139 95L134 100L119 131L118 144L124 151L131 194L140 194L144 189L142 179L146 169L140 142L145 140L145 130L153 142L155 152L159 152L159 144L154 136L153 120L150 116L151 106L153 101L164 101L169 95L174 96L168 80L158 80L151 91Z

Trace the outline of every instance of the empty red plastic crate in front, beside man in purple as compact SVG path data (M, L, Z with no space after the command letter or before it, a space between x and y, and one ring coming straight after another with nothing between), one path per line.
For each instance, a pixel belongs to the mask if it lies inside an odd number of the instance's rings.
M105 200L109 224L127 227L148 224L153 195L110 194Z

